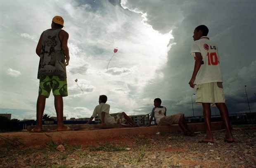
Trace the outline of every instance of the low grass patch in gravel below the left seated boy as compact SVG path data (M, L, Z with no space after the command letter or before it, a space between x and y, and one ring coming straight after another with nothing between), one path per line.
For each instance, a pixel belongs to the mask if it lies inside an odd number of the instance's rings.
M115 152L115 151L126 151L126 147L116 146L109 142L100 144L97 147L90 147L90 151L106 151L106 152Z

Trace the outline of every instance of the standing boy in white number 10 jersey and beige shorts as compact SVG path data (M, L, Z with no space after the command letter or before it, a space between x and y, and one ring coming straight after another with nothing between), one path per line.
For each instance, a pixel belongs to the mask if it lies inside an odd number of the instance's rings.
M206 26L197 26L194 30L194 42L191 55L195 59L194 71L189 82L192 88L196 86L197 103L202 103L204 123L206 125L206 138L199 142L214 142L211 134L211 105L216 105L220 110L225 123L226 142L234 142L230 131L228 108L222 86L222 75L218 47L207 37L209 30Z

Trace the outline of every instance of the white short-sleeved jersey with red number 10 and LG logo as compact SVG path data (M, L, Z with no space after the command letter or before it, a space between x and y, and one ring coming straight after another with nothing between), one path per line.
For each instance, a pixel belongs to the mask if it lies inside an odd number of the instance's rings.
M195 53L199 52L203 57L202 65L194 82L195 84L222 82L218 47L207 38L203 36L192 43L191 55L195 58Z

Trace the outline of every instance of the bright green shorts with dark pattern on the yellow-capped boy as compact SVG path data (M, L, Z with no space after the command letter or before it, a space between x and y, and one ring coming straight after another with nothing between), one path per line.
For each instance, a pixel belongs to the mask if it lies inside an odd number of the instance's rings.
M66 78L52 75L41 76L39 84L39 95L49 98L51 90L54 96L68 96Z

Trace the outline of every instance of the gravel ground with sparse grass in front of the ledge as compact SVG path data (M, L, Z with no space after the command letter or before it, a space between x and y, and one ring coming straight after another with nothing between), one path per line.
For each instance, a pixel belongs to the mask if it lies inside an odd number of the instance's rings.
M87 145L48 143L45 147L6 145L0 148L2 168L256 168L256 130L233 131L235 143L213 131L214 144L192 137L165 134L121 137ZM59 149L60 148L60 149ZM61 146L59 146L61 150Z

